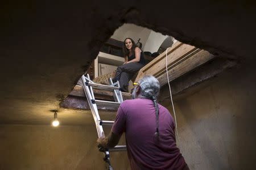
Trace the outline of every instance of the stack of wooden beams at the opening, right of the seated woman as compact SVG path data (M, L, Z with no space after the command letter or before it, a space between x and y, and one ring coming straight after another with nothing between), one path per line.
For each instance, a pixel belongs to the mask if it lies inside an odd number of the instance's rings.
M192 45L176 42L167 51L167 68L169 80L199 67L200 65L212 60L214 56L209 52L196 48ZM150 63L145 65L138 73L135 81L146 75L152 75L158 78L160 86L167 84L166 73L166 52L163 52Z

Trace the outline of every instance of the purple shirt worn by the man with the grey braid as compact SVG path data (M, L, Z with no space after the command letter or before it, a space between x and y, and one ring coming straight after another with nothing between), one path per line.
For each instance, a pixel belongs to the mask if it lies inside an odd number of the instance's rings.
M170 112L159 105L159 138L155 106L150 99L124 101L115 118L112 132L126 135L131 169L183 169L185 160L176 147L175 124Z

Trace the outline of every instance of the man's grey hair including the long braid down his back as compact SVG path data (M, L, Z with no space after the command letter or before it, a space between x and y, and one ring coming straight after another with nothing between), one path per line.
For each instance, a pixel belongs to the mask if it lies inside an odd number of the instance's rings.
M160 84L159 81L154 76L144 76L141 80L138 81L139 86L141 87L141 96L142 98L151 99L155 106L155 117L156 117L156 131L155 136L159 137L158 130L158 115L159 108L156 98L158 97Z

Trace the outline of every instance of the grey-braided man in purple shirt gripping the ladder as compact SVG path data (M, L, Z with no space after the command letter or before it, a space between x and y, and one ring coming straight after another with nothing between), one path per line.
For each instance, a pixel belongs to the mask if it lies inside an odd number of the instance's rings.
M133 99L121 103L110 134L97 140L98 147L101 151L114 147L125 132L131 169L187 170L176 146L174 118L156 102L159 90L155 77L139 80Z

